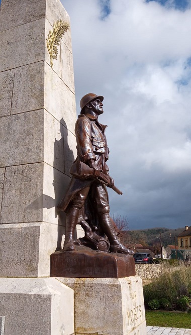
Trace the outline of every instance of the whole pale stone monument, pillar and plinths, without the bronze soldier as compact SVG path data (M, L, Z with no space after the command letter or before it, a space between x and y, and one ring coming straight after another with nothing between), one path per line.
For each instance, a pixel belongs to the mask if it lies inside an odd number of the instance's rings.
M132 261L125 272L123 262L115 263L109 278L95 271L92 278L49 277L50 256L64 254L65 213L58 215L57 204L76 157L69 25L60 0L2 0L1 335L146 335L142 283ZM78 223L76 239L84 236ZM65 251L75 269L72 252ZM116 254L116 262L122 257Z

